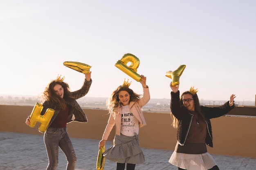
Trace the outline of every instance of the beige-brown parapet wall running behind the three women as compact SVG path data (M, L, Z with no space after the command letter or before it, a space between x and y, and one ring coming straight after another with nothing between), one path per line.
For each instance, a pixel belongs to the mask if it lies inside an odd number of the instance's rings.
M0 131L43 135L38 132L39 123L34 128L25 124L33 106L0 105ZM84 109L88 123L72 122L67 125L70 137L101 140L108 121L107 110ZM250 113L248 113L248 111ZM256 114L256 108L234 108L231 113ZM142 148L174 150L176 129L171 126L172 119L168 113L144 113L147 126L139 131ZM213 148L208 152L219 155L231 155L256 158L256 118L252 117L219 117L212 119ZM115 136L113 128L108 140ZM42 138L43 140L43 138Z

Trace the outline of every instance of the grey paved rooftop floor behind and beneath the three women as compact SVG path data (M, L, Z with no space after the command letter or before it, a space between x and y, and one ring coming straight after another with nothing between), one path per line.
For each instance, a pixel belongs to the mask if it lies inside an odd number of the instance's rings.
M77 162L76 170L96 170L98 140L71 138ZM112 146L106 141L106 148ZM29 135L0 131L1 170L45 170L48 159L43 135ZM137 170L177 170L168 163L173 151L142 148L146 161L136 165ZM220 170L255 170L256 159L213 155ZM59 150L59 165L56 170L65 170L66 159ZM106 159L104 170L115 170L116 163Z

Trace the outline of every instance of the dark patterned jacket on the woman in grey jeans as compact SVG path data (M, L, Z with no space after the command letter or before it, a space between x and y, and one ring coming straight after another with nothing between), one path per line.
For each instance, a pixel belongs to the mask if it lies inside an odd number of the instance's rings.
M87 119L83 109L76 102L76 99L79 99L79 98L85 96L88 93L91 84L92 84L92 79L90 79L90 81L87 81L85 79L83 86L79 90L71 92L71 95L74 97L74 99L66 101L67 104L69 104L71 106L71 109L68 113L67 123L70 123L71 121L78 121L80 123L88 122L88 119ZM47 110L47 108L49 108L49 104L47 101L45 101L43 103L43 110L41 111L41 115L45 114L45 111ZM54 121L54 119L56 118L56 116L58 115L59 112L60 112L60 110L55 110L54 115L52 116L52 119L49 122L49 125L52 124L52 122ZM49 125L48 125L48 127L49 127Z

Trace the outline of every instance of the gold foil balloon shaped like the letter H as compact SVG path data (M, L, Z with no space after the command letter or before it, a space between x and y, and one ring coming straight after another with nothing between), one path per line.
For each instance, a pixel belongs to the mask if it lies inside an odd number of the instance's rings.
M45 132L55 112L55 110L48 108L44 115L40 115L42 109L43 109L43 105L36 102L30 115L29 127L34 128L36 125L36 122L39 122L40 123L40 126L38 128L39 132Z

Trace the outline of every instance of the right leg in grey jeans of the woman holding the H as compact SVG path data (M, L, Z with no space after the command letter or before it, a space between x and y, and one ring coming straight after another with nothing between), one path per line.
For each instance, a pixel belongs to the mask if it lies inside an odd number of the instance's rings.
M67 131L63 131L62 135L63 137L59 141L59 146L67 158L66 170L74 170L76 166L76 153Z

